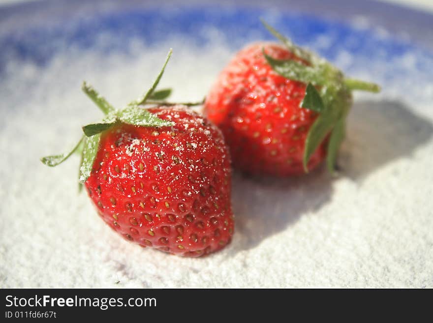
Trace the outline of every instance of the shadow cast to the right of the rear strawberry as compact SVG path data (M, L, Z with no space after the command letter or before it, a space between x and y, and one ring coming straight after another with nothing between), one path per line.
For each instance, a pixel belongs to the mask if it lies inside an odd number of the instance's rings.
M362 180L382 165L409 157L433 134L432 123L396 101L361 101L349 115L340 150L342 176Z

